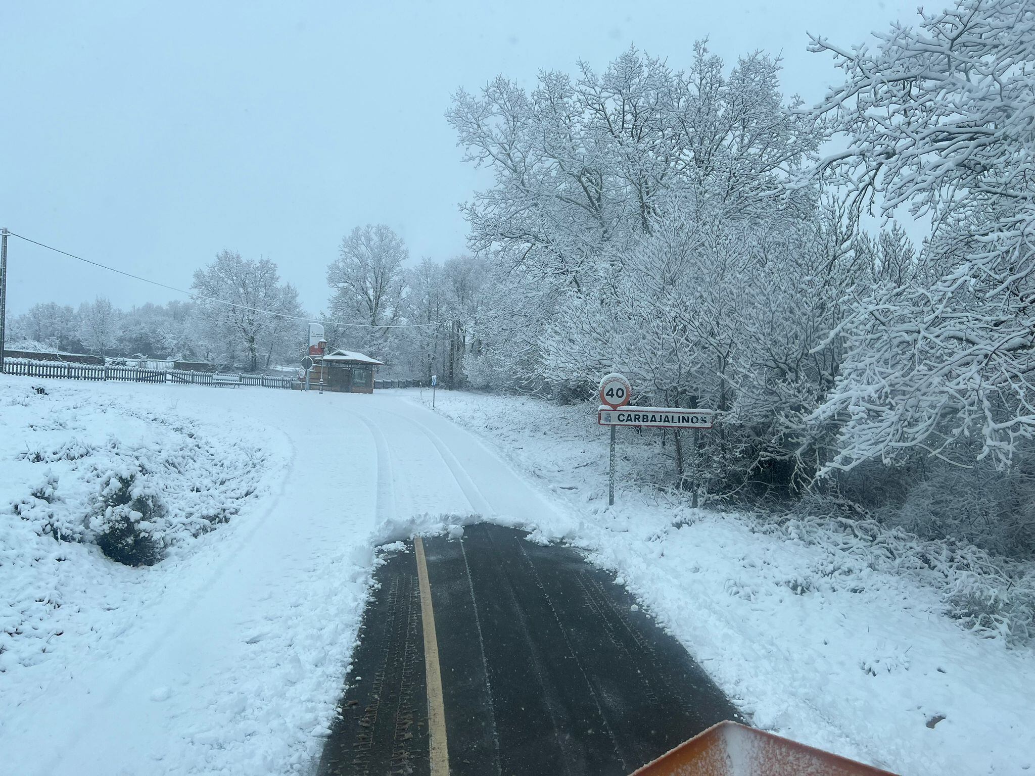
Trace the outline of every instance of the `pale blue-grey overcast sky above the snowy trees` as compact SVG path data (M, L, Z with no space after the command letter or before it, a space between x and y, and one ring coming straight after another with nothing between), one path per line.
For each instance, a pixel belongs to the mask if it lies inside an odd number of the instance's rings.
M630 43L689 65L782 53L809 103L836 81L806 30L842 44L916 2L9 3L0 47L0 226L178 288L223 248L265 256L312 312L352 227L384 222L414 260L465 250L459 203L487 179L443 113L498 73L602 70ZM21 240L8 309L177 295Z

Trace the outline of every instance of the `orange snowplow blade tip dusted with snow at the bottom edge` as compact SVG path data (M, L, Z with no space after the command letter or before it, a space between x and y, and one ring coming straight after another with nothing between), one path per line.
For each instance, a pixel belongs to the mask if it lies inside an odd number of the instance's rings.
M632 776L894 776L736 722L719 722Z

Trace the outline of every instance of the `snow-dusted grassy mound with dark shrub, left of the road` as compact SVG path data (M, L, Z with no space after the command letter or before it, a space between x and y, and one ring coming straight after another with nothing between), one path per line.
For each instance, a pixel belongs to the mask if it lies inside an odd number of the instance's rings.
M147 564L178 563L275 479L268 429L170 393L0 376L0 684L81 627L114 639L141 595L125 586L159 581Z

